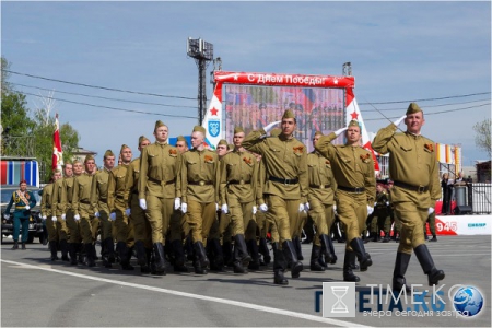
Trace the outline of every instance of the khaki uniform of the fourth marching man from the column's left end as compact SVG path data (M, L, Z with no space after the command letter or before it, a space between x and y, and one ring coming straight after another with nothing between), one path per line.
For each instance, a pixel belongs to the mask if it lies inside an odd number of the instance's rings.
M93 175L83 173L73 180L73 214L80 215L80 233L84 244L94 242L93 220L94 209L91 204L91 188Z

